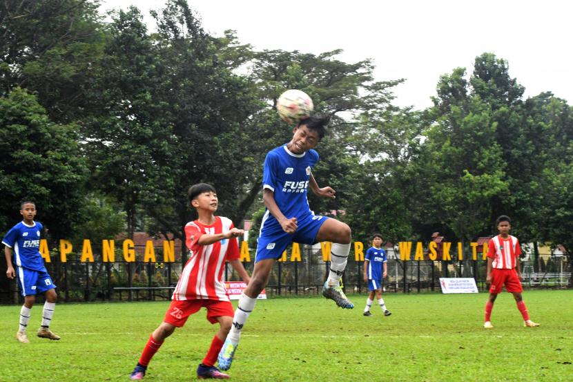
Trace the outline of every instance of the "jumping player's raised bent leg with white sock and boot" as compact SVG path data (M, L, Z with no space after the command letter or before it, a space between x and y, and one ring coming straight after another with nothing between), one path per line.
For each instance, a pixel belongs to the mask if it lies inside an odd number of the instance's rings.
M331 265L329 277L324 283L322 296L334 300L336 305L343 309L352 309L354 304L342 292L340 278L346 269L350 253L351 229L347 224L336 219L328 219L320 226L316 235L316 242L333 242L331 247Z

